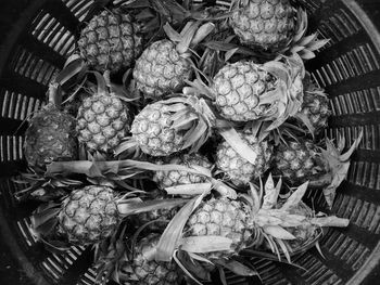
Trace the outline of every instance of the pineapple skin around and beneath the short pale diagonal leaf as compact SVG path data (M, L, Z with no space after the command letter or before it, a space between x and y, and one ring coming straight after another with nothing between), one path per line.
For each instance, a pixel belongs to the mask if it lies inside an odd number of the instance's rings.
M224 141L217 147L216 166L232 183L243 186L261 177L270 167L273 146L266 140L257 142L255 135L250 133L240 133L240 138L257 154L256 164L253 165L241 157Z

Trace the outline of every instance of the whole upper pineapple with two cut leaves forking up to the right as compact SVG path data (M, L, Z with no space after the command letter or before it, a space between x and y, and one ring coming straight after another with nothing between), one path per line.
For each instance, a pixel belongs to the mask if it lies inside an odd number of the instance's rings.
M149 46L134 69L136 87L148 96L160 98L179 91L192 74L190 47L198 44L213 28L211 23L199 27L190 22L181 34L165 26L169 39Z

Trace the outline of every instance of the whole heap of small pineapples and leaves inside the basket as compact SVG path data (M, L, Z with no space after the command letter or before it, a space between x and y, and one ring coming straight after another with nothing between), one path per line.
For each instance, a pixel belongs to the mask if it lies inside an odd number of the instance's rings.
M40 200L49 250L94 246L99 283L203 284L349 224L330 209L362 133L345 153L325 138L304 62L328 39L300 3L94 1L78 30L25 134L17 198Z

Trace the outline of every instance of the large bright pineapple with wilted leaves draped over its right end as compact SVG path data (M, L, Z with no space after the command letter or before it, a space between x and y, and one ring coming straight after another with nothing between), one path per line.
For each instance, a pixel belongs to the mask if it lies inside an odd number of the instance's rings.
M265 64L237 62L213 78L211 98L220 115L232 121L274 121L281 125L302 104L304 65L294 55Z

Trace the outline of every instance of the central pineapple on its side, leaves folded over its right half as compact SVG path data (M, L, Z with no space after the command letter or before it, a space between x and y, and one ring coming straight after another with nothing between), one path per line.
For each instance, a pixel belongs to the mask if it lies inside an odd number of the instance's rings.
M214 113L206 100L176 96L147 105L131 125L131 140L116 154L139 147L151 156L167 156L185 148L197 152L212 134Z

